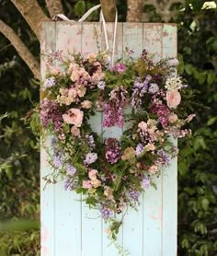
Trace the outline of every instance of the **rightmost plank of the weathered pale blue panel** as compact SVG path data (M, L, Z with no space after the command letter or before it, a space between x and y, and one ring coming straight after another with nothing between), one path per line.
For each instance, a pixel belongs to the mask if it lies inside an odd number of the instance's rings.
M177 57L177 26L163 26L163 57ZM173 140L177 145L177 140ZM162 255L177 255L177 157L163 172Z

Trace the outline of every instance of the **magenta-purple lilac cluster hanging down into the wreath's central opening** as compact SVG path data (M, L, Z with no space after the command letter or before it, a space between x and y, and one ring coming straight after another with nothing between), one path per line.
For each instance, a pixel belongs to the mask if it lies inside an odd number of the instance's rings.
M103 127L123 127L123 111L119 105L106 103L103 111Z

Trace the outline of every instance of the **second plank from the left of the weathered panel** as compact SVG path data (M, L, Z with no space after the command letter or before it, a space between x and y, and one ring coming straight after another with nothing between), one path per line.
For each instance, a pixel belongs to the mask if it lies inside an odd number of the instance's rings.
M81 24L56 23L56 49L69 52L81 52ZM81 255L81 195L64 191L63 182L55 184L55 253L64 256Z

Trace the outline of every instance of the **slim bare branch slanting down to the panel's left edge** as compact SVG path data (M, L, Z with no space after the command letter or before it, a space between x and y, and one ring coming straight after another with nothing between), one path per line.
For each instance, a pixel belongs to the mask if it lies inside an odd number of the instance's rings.
M29 69L34 76L40 80L40 64L36 61L33 54L29 52L27 46L19 39L16 32L6 25L6 23L2 20L0 20L0 32L2 32L15 47L17 53L24 60L24 62L28 64Z

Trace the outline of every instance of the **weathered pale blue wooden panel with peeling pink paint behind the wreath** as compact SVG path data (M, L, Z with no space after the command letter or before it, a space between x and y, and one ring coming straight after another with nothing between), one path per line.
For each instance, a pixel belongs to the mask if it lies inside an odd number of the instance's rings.
M43 24L41 52L97 52L106 50L99 23L49 22ZM108 23L109 51L112 51L114 24ZM143 48L161 57L176 56L177 30L169 24L118 23L115 60L126 58L126 48L138 57ZM41 74L46 66L41 62ZM102 114L90 121L104 137L120 137L122 129L102 127ZM126 126L127 124L125 124ZM125 127L123 128L125 129ZM51 172L46 152L41 149L41 178ZM141 198L138 212L129 210L120 229L119 243L131 256L175 256L177 250L177 159L156 178L157 190L150 188ZM89 210L81 196L65 192L63 182L43 190L41 180L41 255L42 256L118 256L97 211ZM121 217L121 215L120 215Z

